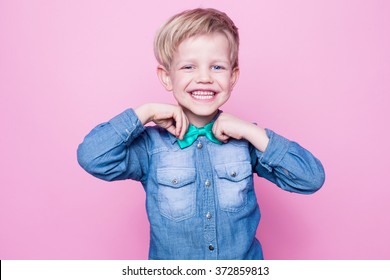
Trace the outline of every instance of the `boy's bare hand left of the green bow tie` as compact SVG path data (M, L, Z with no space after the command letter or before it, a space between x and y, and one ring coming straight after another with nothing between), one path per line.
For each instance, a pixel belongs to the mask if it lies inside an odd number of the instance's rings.
M179 139L187 132L188 118L177 105L148 103L135 109L135 113L142 124L152 121Z

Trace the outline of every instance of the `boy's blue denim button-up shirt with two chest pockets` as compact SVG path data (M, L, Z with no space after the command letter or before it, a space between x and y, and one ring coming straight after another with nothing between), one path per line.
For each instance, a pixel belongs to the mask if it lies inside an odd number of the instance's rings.
M202 136L182 150L173 135L144 127L128 109L85 137L78 160L100 179L142 183L150 259L263 259L253 173L302 194L324 182L309 151L266 131L265 152L245 140L218 145Z

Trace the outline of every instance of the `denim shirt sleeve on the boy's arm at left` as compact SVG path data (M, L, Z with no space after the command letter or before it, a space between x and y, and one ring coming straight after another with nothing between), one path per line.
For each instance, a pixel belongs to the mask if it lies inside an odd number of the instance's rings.
M148 172L145 128L133 109L95 127L79 145L77 159L84 170L106 180L142 181Z

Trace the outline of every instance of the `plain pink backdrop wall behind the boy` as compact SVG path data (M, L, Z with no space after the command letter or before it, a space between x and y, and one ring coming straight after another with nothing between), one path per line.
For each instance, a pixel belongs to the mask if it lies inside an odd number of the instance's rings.
M0 0L0 259L145 259L144 191L76 160L100 122L160 86L152 41L172 14L228 13L241 77L224 110L321 159L311 196L256 179L267 259L390 259L388 1ZM162 3L162 4L159 4Z

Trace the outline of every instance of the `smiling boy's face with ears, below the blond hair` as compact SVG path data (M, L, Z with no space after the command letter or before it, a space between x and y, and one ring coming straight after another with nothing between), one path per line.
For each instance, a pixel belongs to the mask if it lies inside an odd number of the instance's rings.
M229 99L239 74L231 68L227 38L220 33L200 35L179 45L162 82L190 122L199 124L210 121Z

